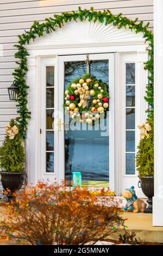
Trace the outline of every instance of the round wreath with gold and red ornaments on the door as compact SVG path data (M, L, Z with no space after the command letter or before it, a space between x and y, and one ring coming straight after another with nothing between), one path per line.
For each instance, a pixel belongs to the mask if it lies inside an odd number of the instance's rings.
M75 79L65 90L64 106L74 121L95 123L109 110L108 84L90 74Z

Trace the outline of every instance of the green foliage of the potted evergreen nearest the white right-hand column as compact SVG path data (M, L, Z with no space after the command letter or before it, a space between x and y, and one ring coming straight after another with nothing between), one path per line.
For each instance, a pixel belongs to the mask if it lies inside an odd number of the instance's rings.
M140 140L139 149L136 155L136 167L139 172L139 176L151 176L154 175L154 136L153 136L153 120L148 119L148 123L151 125L152 130L149 131L149 138Z

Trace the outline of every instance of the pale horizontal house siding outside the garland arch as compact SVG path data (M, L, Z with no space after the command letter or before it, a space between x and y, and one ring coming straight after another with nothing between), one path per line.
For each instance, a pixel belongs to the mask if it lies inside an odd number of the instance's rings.
M129 19L150 22L153 29L153 0L1 0L0 1L0 145L4 139L4 125L16 117L16 103L9 101L7 87L12 82L12 72L16 68L13 45L17 35L32 26L33 21L42 22L46 17L63 11L94 7L95 10L110 9L112 13L122 13Z

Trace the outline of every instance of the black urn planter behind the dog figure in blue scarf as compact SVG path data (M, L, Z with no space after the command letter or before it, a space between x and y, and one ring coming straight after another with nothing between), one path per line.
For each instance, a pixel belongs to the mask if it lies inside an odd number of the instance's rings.
M143 212L144 214L152 214L152 197L154 196L154 176L139 176L139 184L141 184L142 192L148 197L147 203L148 208L145 209Z

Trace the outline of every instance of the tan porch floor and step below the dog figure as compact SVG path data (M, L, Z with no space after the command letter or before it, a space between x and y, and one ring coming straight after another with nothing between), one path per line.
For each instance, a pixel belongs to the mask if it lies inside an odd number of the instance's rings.
M163 243L163 227L153 227L152 214L122 212L121 216L124 219L128 219L126 220L127 230L134 231L137 239L144 240L145 242ZM122 230L120 228L117 230L117 233L108 238L118 240L121 233Z

